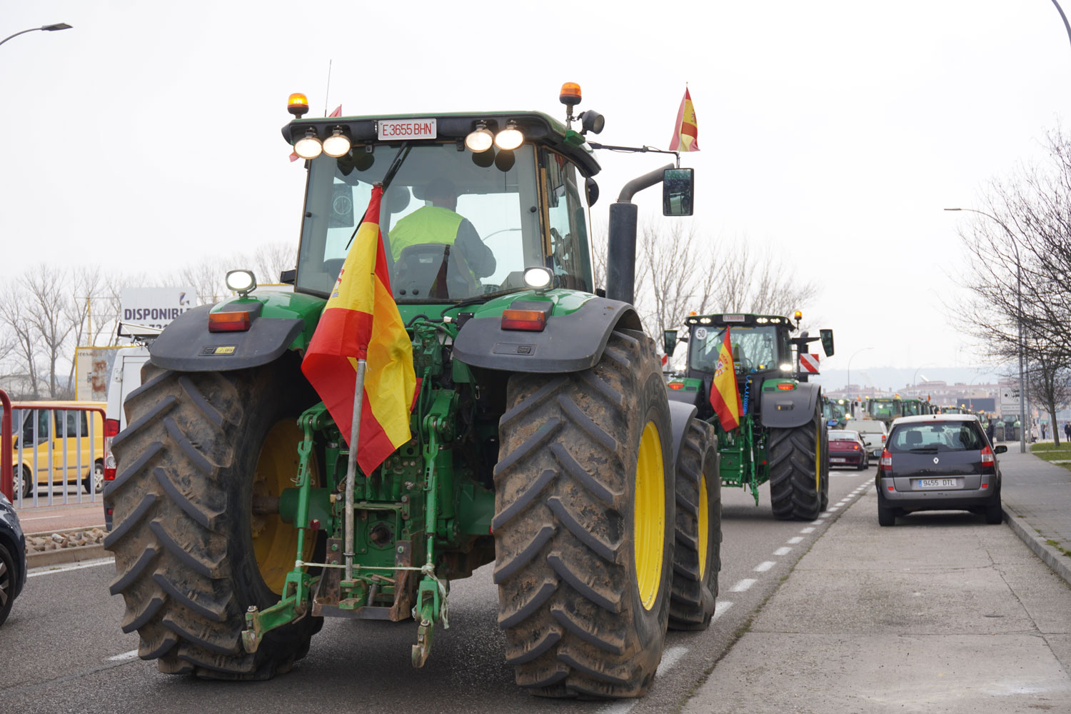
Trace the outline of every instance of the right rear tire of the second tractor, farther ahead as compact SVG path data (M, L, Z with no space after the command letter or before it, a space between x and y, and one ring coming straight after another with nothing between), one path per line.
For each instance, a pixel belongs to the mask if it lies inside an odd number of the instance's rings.
M770 429L770 507L782 520L814 520L829 504L829 444L821 409L802 426Z

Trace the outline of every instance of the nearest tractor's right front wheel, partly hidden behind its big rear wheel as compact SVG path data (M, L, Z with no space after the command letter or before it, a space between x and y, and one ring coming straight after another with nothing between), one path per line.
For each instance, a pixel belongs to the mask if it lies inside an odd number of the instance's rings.
M713 427L691 419L677 454L672 629L706 629L722 569L722 480Z

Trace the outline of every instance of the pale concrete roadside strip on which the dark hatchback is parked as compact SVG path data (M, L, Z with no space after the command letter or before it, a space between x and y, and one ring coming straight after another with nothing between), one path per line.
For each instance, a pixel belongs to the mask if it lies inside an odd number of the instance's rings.
M1069 612L1071 587L1008 528L952 512L881 528L869 489L682 711L1071 712Z

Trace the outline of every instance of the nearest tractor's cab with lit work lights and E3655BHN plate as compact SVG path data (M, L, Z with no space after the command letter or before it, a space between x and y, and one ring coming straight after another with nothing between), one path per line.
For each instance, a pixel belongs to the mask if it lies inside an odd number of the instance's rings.
M587 215L600 167L584 134L601 119L585 112L580 133L537 111L291 121L283 134L308 180L297 271L284 279L330 295L371 218L403 310L533 287L594 292ZM378 215L365 216L376 185Z

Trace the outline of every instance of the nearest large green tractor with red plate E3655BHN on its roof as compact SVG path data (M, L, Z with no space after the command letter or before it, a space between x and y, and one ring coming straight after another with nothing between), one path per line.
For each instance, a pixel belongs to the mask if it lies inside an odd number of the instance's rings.
M690 214L691 170L621 191L606 297L587 224L603 118L573 117L578 87L563 87L564 123L303 118L303 98L283 128L307 171L292 293L232 271L239 297L164 330L125 402L104 497L123 632L162 672L262 680L323 618L414 621L420 667L449 626L450 582L493 565L521 686L642 696L667 626L709 625L721 563L713 429L667 399L631 304L632 195L662 183L665 213ZM444 182L456 236L401 230ZM364 473L301 361L376 185L420 382L411 440Z

